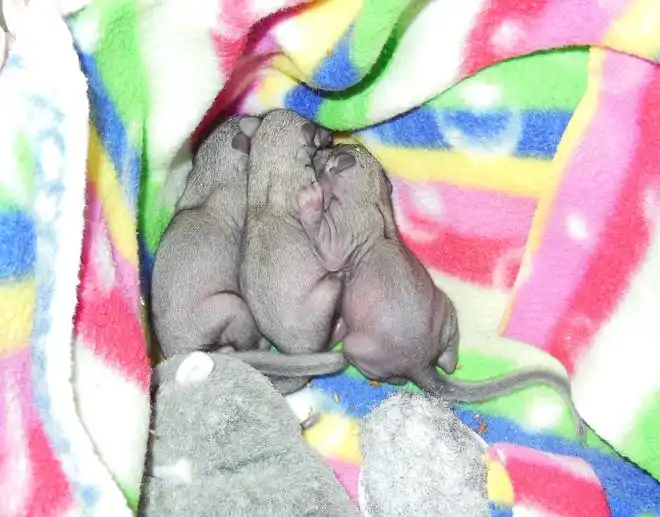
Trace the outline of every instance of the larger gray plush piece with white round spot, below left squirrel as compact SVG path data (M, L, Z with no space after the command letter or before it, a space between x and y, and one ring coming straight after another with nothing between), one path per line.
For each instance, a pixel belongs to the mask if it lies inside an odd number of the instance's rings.
M155 389L140 515L360 515L252 367L222 353L175 355L156 367Z

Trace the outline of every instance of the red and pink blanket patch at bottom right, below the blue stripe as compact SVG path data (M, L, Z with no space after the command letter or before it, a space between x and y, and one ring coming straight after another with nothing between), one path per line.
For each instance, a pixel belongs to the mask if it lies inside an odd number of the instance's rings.
M562 517L609 517L598 476L589 463L536 449L496 443L488 456L504 465L516 507Z

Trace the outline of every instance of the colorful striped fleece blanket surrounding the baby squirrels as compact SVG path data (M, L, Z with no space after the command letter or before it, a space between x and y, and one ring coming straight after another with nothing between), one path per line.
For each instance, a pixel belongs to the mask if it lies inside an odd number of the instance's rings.
M0 515L133 514L154 251L208 127L276 106L383 162L458 377L568 371L586 446L544 387L457 408L493 514L660 515L660 4L299 3L2 3ZM354 496L393 389L351 369L296 396Z

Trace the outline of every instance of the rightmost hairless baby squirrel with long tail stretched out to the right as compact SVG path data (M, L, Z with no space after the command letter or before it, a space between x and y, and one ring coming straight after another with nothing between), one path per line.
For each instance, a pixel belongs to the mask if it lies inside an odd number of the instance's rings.
M382 166L354 145L321 150L313 161L318 183L299 196L300 220L323 266L343 275L342 353L349 362L368 378L412 380L450 402L487 400L531 383L549 384L570 401L568 382L539 369L480 382L441 374L436 366L451 374L457 365L456 309L401 242ZM584 423L571 409L582 436Z

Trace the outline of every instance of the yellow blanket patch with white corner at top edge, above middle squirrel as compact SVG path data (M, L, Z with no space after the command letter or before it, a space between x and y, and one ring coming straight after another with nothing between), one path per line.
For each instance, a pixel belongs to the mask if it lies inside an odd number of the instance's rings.
M308 78L318 64L335 47L346 28L362 9L362 0L321 0L313 2L295 18L275 29L293 67L284 65L285 59L273 66L292 73L298 79ZM302 77L295 74L298 71Z

